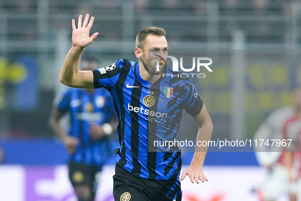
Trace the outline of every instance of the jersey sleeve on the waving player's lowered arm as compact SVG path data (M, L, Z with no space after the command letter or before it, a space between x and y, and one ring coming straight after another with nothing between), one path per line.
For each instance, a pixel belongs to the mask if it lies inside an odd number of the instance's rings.
M191 116L197 116L203 108L203 100L195 86L189 80L186 82L186 88L188 91L185 97L184 109Z

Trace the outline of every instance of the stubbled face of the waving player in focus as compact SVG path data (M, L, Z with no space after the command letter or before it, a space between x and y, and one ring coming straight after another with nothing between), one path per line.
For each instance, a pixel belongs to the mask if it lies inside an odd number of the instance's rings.
M158 75L161 74L163 65L159 62L159 71L157 71L157 56L168 55L167 40L164 36L148 35L145 39L145 45L142 49L141 62L149 74Z

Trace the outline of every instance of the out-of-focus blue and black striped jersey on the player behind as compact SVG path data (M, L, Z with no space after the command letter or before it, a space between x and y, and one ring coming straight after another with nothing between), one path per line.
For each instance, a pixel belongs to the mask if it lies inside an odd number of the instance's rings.
M85 89L68 88L60 93L53 102L62 113L70 114L69 135L79 139L76 152L70 160L87 165L103 165L110 157L111 145L105 136L93 140L90 125L102 125L115 116L113 98L105 89L88 93Z

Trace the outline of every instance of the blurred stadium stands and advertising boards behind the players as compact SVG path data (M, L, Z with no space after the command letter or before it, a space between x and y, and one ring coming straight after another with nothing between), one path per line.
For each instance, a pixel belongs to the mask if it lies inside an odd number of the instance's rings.
M284 0L0 0L0 200L74 200L66 150L48 127L53 98L64 88L59 73L72 18L95 16L91 32L99 36L85 54L101 66L136 61L135 35L147 26L164 28L170 49L226 58L213 60L213 72L194 83L214 140L251 139L271 111L290 104L290 90L300 84L300 53L291 51L301 45L300 11L299 1ZM190 120L184 115L180 138L195 139ZM183 153L185 165L191 156ZM112 200L113 167L112 160L104 169L99 201ZM183 201L258 200L252 188L266 175L254 153L210 152L205 173L209 183L183 182Z

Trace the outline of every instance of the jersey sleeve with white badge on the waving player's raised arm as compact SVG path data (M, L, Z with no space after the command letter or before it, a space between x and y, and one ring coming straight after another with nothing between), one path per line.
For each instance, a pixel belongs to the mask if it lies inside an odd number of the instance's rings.
M104 87L111 91L118 80L122 67L123 59L120 59L110 66L93 70L94 88Z

